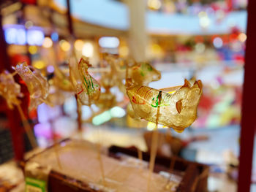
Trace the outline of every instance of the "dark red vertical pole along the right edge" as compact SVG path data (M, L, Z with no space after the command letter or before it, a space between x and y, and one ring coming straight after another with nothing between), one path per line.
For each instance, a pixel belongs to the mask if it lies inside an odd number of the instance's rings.
M244 88L241 118L240 166L238 192L250 191L252 177L252 153L256 126L255 50L256 50L256 1L249 0L247 12L247 40L244 65Z

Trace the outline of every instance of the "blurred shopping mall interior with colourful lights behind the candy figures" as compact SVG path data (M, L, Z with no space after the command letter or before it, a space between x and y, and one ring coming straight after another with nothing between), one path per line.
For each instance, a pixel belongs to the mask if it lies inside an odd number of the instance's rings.
M50 85L56 69L68 73L73 55L89 57L91 74L99 80L96 69L102 66L102 53L150 62L162 72L161 80L149 84L152 88L183 85L184 78L202 80L195 123L182 134L165 127L159 130L171 131L179 141L167 155L176 153L211 166L209 191L236 191L246 5L246 0L2 1L6 46L1 52L7 53L9 65L27 61L39 69ZM1 64L5 68L7 64ZM101 140L105 146L133 145L146 151L145 133L152 126L129 118L127 97L116 87L110 91L116 96L115 107L102 110L92 105L94 113L82 107L82 137ZM41 104L29 113L40 147L49 146L53 138L72 137L78 129L75 96L61 93L56 100L60 104L55 107ZM1 105L4 109L4 102ZM15 152L5 110L0 118L0 164L4 165ZM25 146L29 150L26 138ZM256 164L252 191L255 183Z

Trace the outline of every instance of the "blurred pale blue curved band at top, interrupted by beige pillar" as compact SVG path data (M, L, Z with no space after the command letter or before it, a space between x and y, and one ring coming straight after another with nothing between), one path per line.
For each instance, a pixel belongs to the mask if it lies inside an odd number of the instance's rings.
M57 7L66 9L66 0L54 0ZM80 21L118 31L129 29L129 9L126 4L113 0L71 0L72 15ZM146 26L148 34L229 34L236 26L246 31L246 11L229 12L221 21L215 15L200 20L197 15L166 14L148 10ZM202 28L202 21L207 26Z

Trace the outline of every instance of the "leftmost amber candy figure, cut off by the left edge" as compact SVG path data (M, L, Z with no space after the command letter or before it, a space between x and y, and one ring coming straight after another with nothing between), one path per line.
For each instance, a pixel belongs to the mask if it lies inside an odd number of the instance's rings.
M20 85L15 82L12 74L8 71L0 74L0 95L7 101L10 109L13 109L14 105L20 104L18 97L23 96L20 93Z

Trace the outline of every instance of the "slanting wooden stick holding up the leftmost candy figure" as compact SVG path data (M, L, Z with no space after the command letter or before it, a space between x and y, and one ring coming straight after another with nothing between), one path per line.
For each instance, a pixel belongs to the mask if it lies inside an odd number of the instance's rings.
M31 127L29 125L29 121L26 119L26 116L24 115L24 112L21 109L20 104L17 104L16 106L18 108L18 112L20 113L20 118L25 128L26 135L29 138L29 142L31 143L32 148L34 149L37 147L37 142L36 142L36 139L34 138L34 135L31 133Z

